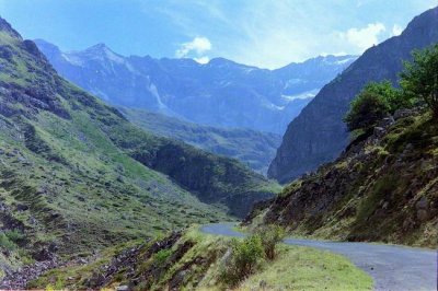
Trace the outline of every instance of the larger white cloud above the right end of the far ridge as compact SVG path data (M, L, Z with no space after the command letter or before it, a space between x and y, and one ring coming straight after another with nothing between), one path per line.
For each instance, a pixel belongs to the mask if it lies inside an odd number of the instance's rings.
M356 46L360 53L377 45L379 43L379 35L387 31L387 27L380 23L370 23L364 28L349 28L345 33L341 33L341 37L346 39L349 44Z

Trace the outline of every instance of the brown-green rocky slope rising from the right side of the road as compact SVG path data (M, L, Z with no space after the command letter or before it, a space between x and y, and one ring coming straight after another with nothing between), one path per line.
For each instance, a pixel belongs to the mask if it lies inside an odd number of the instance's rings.
M437 165L436 119L430 113L399 110L335 162L261 202L246 222L278 223L314 237L435 248Z

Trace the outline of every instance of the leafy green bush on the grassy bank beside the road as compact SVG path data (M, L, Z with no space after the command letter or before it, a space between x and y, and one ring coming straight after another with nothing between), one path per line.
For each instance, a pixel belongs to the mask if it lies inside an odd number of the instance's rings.
M221 280L232 287L237 286L256 271L264 257L265 251L258 234L247 236L243 241L234 240L230 261L221 272Z

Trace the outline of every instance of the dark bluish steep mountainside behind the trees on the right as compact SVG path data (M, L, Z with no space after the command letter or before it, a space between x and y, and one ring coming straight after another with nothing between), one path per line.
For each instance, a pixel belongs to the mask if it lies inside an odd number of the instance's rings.
M435 8L415 18L400 36L369 48L290 123L268 176L281 183L290 182L337 158L348 143L342 119L360 89L370 81L388 79L395 83L411 51L437 42L438 8Z

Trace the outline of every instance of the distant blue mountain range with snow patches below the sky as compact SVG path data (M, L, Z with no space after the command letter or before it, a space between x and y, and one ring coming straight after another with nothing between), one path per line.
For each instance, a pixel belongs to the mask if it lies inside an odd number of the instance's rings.
M64 53L35 42L61 75L111 104L278 135L356 59L318 57L270 71L223 58L200 65L192 59L124 57L104 44Z

